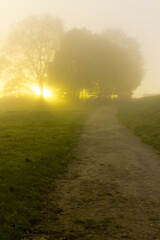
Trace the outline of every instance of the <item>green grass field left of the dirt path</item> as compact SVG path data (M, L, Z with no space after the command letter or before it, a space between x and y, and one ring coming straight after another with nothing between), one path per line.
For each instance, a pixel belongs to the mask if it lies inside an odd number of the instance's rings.
M22 104L23 105L23 104ZM18 240L41 219L50 184L74 158L88 110L52 106L0 112L0 239Z

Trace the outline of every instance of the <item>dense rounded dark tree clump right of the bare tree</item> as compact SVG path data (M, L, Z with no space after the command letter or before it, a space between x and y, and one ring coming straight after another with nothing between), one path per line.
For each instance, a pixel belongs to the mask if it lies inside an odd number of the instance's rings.
M128 48L107 34L86 29L67 32L51 65L51 77L73 95L88 89L100 98L131 96L142 80L142 58L136 41L124 38Z

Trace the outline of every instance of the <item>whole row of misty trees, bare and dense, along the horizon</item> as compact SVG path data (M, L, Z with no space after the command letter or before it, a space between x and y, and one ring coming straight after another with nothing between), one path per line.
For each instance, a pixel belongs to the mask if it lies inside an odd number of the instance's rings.
M101 34L64 31L63 21L50 15L31 16L14 24L1 49L4 93L28 93L46 84L70 97L131 97L140 85L143 59L136 39L120 30Z

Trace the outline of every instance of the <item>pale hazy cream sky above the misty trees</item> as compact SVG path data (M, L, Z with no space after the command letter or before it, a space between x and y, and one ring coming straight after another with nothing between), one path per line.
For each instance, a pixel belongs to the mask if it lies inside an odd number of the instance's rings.
M118 28L136 38L146 73L134 96L160 93L160 0L0 0L0 32L43 13L60 17L66 30Z

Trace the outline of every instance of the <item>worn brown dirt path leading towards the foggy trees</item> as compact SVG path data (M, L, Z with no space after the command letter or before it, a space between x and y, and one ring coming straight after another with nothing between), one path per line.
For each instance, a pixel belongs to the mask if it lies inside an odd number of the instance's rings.
M160 239L160 156L116 112L103 107L86 122L77 159L56 180L44 211L49 239Z

